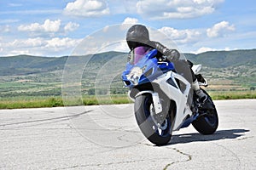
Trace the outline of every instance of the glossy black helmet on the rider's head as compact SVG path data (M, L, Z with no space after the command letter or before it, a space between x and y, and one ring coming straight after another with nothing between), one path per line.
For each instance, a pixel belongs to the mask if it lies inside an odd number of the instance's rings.
M146 45L149 41L148 29L146 26L134 25L126 33L126 42L130 49Z

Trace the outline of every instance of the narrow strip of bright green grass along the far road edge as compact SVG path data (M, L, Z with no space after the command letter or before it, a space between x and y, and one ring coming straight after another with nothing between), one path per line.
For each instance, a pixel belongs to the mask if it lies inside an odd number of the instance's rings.
M256 99L256 91L210 91L208 92L213 100L217 99ZM39 107L58 107L68 105L116 105L128 104L131 100L126 94L116 94L112 96L86 95L82 99L70 99L63 102L61 97L10 97L0 99L0 109L20 109Z

